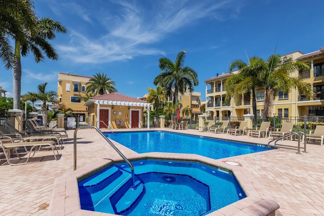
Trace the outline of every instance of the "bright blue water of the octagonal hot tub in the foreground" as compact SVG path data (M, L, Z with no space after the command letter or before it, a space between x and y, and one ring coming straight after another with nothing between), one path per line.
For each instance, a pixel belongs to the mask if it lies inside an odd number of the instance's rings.
M235 177L200 163L132 162L111 165L78 183L82 209L122 215L206 215L246 195Z

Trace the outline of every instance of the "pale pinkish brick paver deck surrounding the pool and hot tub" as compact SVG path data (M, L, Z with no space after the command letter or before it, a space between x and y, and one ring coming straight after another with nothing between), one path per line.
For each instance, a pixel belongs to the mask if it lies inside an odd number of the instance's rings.
M166 128L166 131L170 130ZM268 138L234 137L191 129L180 132L260 144L269 141ZM3 152L0 152L0 164L3 164L0 166L0 215L48 214L55 179L73 170L73 133L68 131L69 139L59 150L57 161L51 151L41 151L30 160L33 163L11 166L5 163ZM125 155L136 154L123 146L118 148ZM296 150L280 149L225 160L240 163L264 185L260 191L262 198L273 199L280 205L276 215L323 215L323 148L319 143L309 143L308 153L296 154ZM78 131L77 167L97 159L109 159L115 154L95 130Z

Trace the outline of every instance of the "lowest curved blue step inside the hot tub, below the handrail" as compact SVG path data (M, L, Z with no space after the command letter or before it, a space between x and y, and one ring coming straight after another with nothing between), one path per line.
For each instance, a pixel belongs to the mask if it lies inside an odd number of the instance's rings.
M142 180L135 177L135 187L132 188L133 181L129 179L114 194L109 197L115 214L123 214L134 205L136 205L141 197L145 194L145 186Z

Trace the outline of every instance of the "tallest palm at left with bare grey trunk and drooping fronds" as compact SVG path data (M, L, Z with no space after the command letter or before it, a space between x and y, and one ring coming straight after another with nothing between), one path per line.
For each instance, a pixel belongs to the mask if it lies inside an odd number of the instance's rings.
M24 19L20 17L20 19ZM26 37L15 38L15 53L13 66L13 95L14 109L19 108L21 92L21 56L27 56L28 53L34 55L35 61L41 62L45 55L52 60L58 59L58 54L48 40L56 37L55 33L65 33L66 28L59 22L50 18L36 18L36 24L32 26L24 25L25 31L28 32Z

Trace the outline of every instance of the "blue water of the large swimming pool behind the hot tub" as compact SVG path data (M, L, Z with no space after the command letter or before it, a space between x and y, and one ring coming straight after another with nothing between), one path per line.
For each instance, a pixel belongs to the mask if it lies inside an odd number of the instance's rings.
M170 132L105 133L105 136L137 153L188 153L219 159L268 150L268 147L264 145L252 145Z

